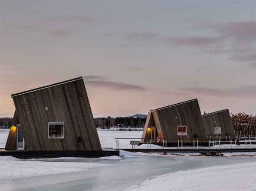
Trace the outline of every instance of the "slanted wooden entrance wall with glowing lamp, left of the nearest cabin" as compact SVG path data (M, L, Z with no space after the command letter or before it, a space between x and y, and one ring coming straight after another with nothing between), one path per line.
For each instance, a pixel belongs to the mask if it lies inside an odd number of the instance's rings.
M12 125L19 124L18 115L16 111L14 112L11 124ZM17 144L16 137L17 137L16 127L11 127L8 134L7 142L5 145L5 150L16 150L16 144Z

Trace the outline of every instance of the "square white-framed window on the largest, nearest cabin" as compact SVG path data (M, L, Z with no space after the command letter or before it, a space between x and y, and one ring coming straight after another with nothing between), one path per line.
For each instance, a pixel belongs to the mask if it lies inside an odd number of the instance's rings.
M50 122L48 123L48 138L49 139L64 139L64 123Z

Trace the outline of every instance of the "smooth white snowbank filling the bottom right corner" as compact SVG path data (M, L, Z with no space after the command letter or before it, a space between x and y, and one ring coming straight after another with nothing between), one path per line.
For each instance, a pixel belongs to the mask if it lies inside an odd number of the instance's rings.
M126 191L252 191L256 190L255 162L174 172L141 182Z

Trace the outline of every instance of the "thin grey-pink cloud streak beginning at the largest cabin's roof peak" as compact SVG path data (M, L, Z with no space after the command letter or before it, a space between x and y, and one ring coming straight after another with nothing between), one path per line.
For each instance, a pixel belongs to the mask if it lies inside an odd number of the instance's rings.
M83 76L85 83L94 87L103 87L112 90L146 90L142 86L132 85L128 83L117 83L106 81L102 76Z

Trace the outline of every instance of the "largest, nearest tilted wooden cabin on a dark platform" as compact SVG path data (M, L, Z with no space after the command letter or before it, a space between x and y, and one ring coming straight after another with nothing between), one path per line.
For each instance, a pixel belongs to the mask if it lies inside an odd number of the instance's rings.
M100 151L82 77L12 95L16 108L5 150Z

